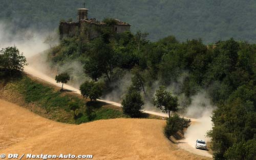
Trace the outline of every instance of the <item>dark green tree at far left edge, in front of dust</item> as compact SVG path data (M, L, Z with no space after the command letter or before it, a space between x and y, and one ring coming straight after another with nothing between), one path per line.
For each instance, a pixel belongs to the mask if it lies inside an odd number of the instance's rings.
M23 53L20 54L15 46L0 50L0 72L11 74L23 71L24 66L28 65L26 62Z

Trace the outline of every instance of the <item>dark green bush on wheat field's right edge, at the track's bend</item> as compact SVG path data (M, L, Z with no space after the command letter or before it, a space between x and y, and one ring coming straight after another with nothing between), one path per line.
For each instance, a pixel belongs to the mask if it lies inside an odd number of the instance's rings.
M170 136L173 136L179 130L184 130L189 127L190 119L181 118L179 115L175 114L172 117L169 117L166 120L166 126L164 127L164 135L169 139Z

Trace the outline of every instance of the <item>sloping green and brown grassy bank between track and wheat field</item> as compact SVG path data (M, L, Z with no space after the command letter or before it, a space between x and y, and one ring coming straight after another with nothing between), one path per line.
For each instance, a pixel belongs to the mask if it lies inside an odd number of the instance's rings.
M80 124L99 119L127 117L122 111L106 103L95 102L88 106L87 99L71 92L60 92L59 88L26 74L8 80L1 78L0 92L2 93L0 98L18 103L40 116L63 123ZM79 106L75 112L70 110L71 103Z

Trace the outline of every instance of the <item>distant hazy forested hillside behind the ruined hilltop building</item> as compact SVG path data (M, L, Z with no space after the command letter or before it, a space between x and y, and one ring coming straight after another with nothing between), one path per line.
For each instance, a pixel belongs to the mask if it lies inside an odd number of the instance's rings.
M0 19L13 22L19 29L52 30L60 19L75 20L76 8L82 8L84 2L90 18L129 22L133 33L150 33L153 41L174 35L180 41L200 37L204 43L214 43L233 37L256 42L256 2L252 0L1 0Z

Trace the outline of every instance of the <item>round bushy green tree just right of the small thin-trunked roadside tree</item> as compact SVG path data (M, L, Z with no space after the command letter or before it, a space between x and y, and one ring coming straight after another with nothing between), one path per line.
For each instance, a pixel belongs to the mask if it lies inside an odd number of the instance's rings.
M86 81L80 86L80 91L83 97L90 98L90 100L96 100L102 95L104 85L99 82Z

